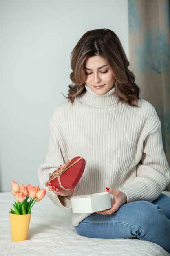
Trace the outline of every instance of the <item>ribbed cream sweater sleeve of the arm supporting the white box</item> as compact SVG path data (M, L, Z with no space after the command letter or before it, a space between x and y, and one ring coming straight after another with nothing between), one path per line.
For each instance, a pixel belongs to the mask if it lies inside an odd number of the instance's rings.
M170 169L163 151L161 124L148 134L143 145L141 163L136 166L136 177L124 189L127 202L152 202L170 182ZM149 198L149 199L148 199Z

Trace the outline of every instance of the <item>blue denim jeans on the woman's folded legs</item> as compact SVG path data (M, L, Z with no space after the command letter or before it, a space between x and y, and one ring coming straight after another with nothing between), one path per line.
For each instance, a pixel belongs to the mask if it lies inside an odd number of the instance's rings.
M170 197L123 204L111 215L93 213L75 227L91 238L137 238L161 245L170 253Z

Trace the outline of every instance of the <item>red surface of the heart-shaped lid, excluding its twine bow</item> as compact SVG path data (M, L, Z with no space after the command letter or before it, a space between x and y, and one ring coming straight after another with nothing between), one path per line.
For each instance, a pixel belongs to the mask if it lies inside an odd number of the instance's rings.
M71 164L73 164L75 161L77 161L80 157L74 157L73 159L71 159L71 161L69 162L68 166L66 168L68 168L69 166L71 166ZM77 163L75 163L73 166L71 166L70 168L68 168L67 171L65 171L64 173L62 173L60 175L60 181L62 186L65 189L74 189L75 186L77 185L77 183L79 182L80 178L82 177L82 174L84 172L84 168L86 166L86 161L82 158L80 159ZM59 168L59 170L62 167ZM55 173L56 171L54 171ZM55 188L57 189L62 189L59 185L58 182L58 178L56 177L54 180L51 180L51 186L55 186Z

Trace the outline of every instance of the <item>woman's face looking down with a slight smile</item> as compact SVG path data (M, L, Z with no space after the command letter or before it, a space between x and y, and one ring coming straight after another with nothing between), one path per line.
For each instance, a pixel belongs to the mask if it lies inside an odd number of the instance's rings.
M103 95L113 87L116 79L103 57L93 56L86 59L84 69L85 83L95 94Z

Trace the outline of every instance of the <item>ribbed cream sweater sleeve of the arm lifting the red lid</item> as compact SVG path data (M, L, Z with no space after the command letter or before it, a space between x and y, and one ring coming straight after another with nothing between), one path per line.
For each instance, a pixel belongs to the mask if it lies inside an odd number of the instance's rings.
M46 162L38 169L40 186L42 188L46 188L45 182L49 179L49 173L55 171L61 164L63 165L65 163L60 148L59 135L57 134L57 131L49 125L49 149L46 156ZM49 191L47 188L46 195L55 205L64 208L71 208L71 196L73 195L55 195L53 191Z

